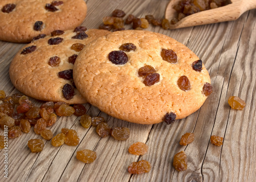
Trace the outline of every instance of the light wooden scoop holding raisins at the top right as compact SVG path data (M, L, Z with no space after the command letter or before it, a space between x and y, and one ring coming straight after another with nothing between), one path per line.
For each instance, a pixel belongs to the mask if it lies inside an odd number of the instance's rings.
M170 0L165 11L165 18L172 20L178 17L177 11L173 9L174 5L181 0ZM217 23L222 21L231 21L238 19L244 12L256 8L256 0L231 0L231 4L226 6L201 11L170 25L170 29L179 29L184 27L193 27L201 24Z

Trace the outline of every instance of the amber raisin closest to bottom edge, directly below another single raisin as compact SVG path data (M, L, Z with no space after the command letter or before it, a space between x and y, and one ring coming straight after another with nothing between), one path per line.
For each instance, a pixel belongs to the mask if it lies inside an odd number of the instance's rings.
M145 160L133 162L128 167L128 172L130 174L141 174L145 172L150 172L150 170L151 170L151 164Z

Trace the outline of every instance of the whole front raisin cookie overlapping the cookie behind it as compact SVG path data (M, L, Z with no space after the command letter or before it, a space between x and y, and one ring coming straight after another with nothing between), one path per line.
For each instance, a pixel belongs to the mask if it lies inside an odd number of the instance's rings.
M168 55L174 60L176 55L177 62L166 59ZM139 69L145 65L152 66L155 73L143 76ZM169 124L184 118L197 111L211 93L210 76L190 49L148 31L113 32L92 41L77 57L73 76L77 89L92 105L118 119L140 124ZM178 83L180 77L185 81L179 81L184 90Z

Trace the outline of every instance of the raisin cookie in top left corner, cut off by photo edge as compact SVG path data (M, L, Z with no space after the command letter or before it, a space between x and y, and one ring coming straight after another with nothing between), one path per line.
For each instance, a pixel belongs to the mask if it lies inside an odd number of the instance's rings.
M1 0L0 40L31 42L39 34L74 29L86 13L84 0Z

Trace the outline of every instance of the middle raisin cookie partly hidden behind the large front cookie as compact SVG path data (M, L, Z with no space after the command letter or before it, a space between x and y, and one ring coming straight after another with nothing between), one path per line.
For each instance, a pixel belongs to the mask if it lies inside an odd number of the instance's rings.
M24 46L10 65L13 85L20 92L39 100L85 103L86 99L73 82L74 62L84 45L110 33L96 29L81 31L85 29L54 31L54 35L63 34L47 36Z

